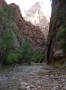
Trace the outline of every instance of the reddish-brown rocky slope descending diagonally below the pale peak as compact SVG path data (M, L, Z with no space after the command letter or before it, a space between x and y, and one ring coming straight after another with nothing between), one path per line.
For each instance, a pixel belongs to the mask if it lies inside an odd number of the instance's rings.
M23 19L20 9L17 5L14 3L11 4L11 6L16 10L17 12L17 17L16 17L16 24L17 27L20 30L20 33L22 36L31 42L33 46L36 49L44 49L45 47L45 37L43 32L40 30L38 26L32 25L30 22L27 22Z

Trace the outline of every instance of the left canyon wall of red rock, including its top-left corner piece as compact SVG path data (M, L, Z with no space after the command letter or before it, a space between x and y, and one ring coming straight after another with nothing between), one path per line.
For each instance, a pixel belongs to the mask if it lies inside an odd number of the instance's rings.
M0 7L3 8L5 5L8 5L5 0L0 0ZM45 48L45 37L39 26L34 26L23 19L18 5L12 3L10 6L16 10L16 18L13 23L18 28L19 35L16 35L16 33L14 34L19 40L20 45L23 44L24 41L29 41L35 49L43 50Z

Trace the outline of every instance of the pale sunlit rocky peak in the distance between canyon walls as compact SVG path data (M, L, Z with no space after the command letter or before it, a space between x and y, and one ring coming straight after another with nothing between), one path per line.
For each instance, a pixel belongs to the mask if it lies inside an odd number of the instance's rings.
M23 17L26 21L30 21L41 29L48 30L50 16L47 14L42 2L36 2L29 10L25 10L23 13L25 13Z

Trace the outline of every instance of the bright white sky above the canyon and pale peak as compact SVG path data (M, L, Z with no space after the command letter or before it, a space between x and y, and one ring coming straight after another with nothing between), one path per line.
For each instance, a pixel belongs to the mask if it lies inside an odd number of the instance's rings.
M37 1L42 1L45 5L45 8L48 14L51 13L51 2L50 0L5 0L8 4L16 3L19 5L21 10L28 10L34 3Z

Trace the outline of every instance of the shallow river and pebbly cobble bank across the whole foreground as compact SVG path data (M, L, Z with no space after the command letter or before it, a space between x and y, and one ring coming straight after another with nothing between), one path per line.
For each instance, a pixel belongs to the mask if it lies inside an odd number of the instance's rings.
M66 90L66 68L45 63L1 68L0 90Z

